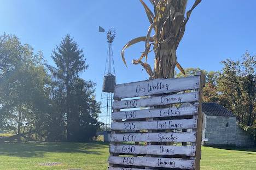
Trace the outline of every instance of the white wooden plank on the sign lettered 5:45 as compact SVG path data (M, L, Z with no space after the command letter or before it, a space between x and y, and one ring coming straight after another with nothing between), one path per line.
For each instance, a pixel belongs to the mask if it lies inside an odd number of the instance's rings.
M112 122L111 130L196 129L196 119Z

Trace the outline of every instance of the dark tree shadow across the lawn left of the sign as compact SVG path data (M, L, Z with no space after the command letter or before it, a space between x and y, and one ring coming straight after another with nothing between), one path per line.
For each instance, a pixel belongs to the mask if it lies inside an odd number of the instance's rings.
M15 157L43 157L47 152L101 154L99 149L109 143L69 143L69 142L5 142L0 143L0 155Z

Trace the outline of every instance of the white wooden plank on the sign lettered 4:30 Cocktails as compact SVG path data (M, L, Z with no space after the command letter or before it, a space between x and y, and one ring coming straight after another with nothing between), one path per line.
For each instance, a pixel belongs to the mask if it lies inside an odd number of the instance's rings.
M195 115L197 110L197 106L191 106L113 112L112 120Z

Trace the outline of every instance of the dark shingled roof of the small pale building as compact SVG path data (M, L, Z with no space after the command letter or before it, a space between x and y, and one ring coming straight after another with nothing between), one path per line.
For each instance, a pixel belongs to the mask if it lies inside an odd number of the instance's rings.
M202 112L209 116L229 116L235 117L235 115L224 108L222 105L219 105L214 102L202 102Z

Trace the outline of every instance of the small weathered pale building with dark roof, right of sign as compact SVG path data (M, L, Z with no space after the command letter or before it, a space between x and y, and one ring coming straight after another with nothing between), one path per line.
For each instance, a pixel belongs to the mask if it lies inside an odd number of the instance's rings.
M203 145L252 147L253 137L236 124L236 117L217 103L202 103Z

